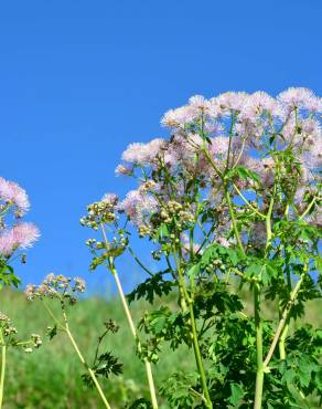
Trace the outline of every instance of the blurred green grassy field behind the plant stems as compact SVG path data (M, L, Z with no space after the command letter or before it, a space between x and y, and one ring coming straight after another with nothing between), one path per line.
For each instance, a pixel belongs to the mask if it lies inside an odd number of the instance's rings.
M133 304L133 315L138 321L148 305ZM1 292L0 311L9 315L21 338L37 333L44 335L53 325L41 302L28 302L12 291ZM124 363L124 375L104 380L103 387L114 408L124 408L126 402L139 397L148 397L144 367L136 357L132 338L117 300L105 301L98 297L86 298L69 312L71 328L88 361L93 358L98 335L104 331L103 323L109 318L120 325L116 335L106 339L104 347L112 350ZM307 311L305 321L322 326L322 316L316 304ZM155 382L159 385L178 369L189 369L194 365L192 352L182 347L175 355L164 350L160 363L154 367ZM4 409L85 409L103 408L96 390L86 388L80 380L84 368L75 356L65 335L53 340L44 338L43 346L32 354L11 348L8 354ZM160 399L161 401L161 399ZM162 409L169 408L162 402Z

